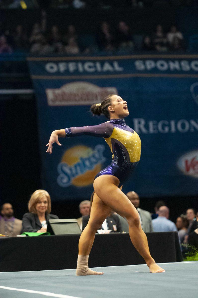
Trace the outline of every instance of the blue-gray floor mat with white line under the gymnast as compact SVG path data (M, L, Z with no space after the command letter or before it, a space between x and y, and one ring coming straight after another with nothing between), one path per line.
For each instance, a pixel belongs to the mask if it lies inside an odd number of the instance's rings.
M75 276L75 270L1 272L1 298L197 298L198 261L94 268L99 276Z

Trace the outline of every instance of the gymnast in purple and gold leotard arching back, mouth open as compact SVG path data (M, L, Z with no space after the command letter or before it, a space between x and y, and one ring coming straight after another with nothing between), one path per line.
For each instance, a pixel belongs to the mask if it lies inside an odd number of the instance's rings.
M79 240L76 275L103 274L103 272L89 269L88 258L95 233L112 209L127 219L131 241L144 258L150 272L165 272L151 257L146 235L141 228L139 214L122 192L123 183L129 179L140 160L141 151L141 141L138 134L126 125L124 120L124 117L129 115L127 102L118 95L108 95L102 103L92 105L91 111L95 115L104 115L109 121L94 126L55 130L46 145L48 146L46 152L51 154L53 143L56 142L61 146L58 137L92 135L103 137L113 153L111 164L101 170L94 179L95 193L89 222Z

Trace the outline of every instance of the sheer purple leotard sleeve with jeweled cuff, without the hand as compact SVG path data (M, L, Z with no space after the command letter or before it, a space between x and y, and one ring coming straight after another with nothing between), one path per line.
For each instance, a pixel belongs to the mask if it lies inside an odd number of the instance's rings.
M65 128L65 133L66 137L81 136L85 134L109 138L109 136L112 135L113 129L114 125L112 123L104 122L99 125Z

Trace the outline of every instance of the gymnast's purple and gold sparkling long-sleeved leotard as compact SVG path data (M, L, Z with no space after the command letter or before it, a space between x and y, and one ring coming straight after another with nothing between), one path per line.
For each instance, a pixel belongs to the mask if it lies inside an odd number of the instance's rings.
M140 160L141 141L138 134L126 125L124 119L111 119L99 125L65 128L66 137L92 135L103 137L109 145L112 162L101 170L101 175L113 175L120 180L118 187L129 179L130 174Z

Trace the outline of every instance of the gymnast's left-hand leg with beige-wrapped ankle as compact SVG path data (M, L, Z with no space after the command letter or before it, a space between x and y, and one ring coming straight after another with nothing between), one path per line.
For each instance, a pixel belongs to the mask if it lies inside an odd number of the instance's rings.
M103 272L96 272L89 269L88 258L94 242L95 233L103 224L104 220L107 218L110 212L111 208L103 203L98 195L94 193L89 222L83 230L79 240L76 275L103 274Z

